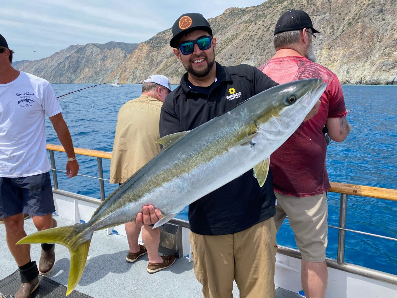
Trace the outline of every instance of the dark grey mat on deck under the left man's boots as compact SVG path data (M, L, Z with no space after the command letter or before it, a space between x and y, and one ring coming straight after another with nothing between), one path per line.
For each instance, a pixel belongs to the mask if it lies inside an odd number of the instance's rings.
M31 294L31 298L65 298L66 286L57 283L52 279L39 275L39 287ZM19 276L18 270L8 275L8 277L0 281L0 293L15 294L21 285L21 277ZM68 298L92 298L86 294L80 293L76 290L71 292Z

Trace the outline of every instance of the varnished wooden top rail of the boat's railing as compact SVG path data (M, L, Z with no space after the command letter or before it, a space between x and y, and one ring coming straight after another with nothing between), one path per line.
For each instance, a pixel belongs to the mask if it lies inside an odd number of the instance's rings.
M76 148L76 147L74 149L76 154L112 159L111 152ZM47 144L47 150L65 152L64 147L60 145L52 145L52 144ZM389 188L338 183L338 182L330 182L330 183L331 183L331 188L328 190L329 192L397 201L397 190L392 190Z

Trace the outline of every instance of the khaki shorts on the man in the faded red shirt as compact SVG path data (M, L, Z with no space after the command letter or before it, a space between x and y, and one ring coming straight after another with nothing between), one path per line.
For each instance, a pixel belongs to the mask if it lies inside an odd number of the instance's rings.
M274 192L277 197L274 222L279 230L288 215L289 225L304 260L325 261L328 243L327 193L308 197L294 197Z

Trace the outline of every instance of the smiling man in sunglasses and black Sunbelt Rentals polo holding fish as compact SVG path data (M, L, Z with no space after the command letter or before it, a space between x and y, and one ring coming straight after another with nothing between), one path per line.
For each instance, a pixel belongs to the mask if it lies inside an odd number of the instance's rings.
M202 15L181 15L172 32L170 45L187 74L162 106L160 137L196 128L277 85L252 66L215 62L216 38ZM274 296L272 189L270 172L260 186L249 170L189 205L194 271L204 297L230 297L233 280L241 297Z

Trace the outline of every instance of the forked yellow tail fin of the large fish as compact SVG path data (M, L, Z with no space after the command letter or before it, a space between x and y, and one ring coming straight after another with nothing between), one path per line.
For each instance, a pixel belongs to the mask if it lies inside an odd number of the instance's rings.
M75 286L77 286L77 283L79 283L90 248L92 234L89 240L81 242L79 241L79 238L81 238L81 233L79 231L81 230L82 228L80 225L50 228L30 234L17 242L17 244L58 243L69 249L70 270L69 278L67 279L66 296L69 295Z

